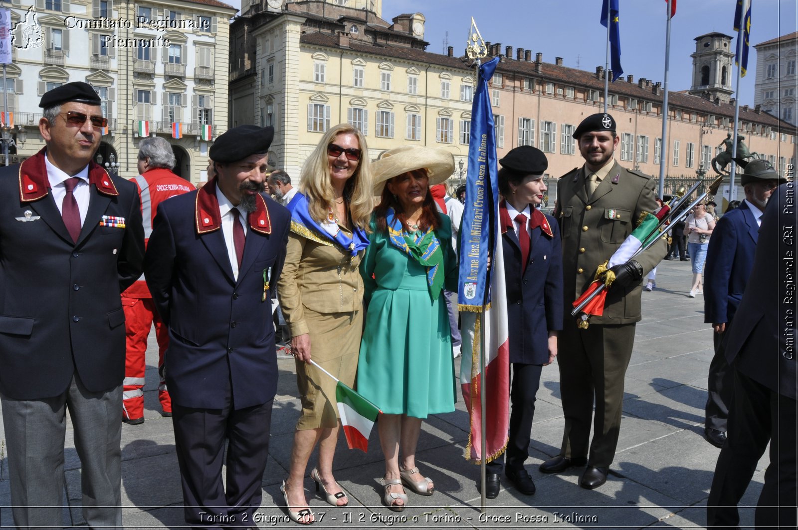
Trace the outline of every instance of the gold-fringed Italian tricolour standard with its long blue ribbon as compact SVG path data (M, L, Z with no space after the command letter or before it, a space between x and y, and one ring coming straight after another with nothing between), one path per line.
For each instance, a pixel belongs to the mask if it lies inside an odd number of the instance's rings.
M461 255L457 299L463 327L460 384L470 425L465 457L476 463L487 463L504 453L510 422L507 293L503 255L496 251L500 233L499 188L488 93L488 81L498 64L499 57L495 57L480 66L472 104L465 208L458 243ZM480 362L480 354L484 355L484 363ZM483 396L484 417L480 407ZM487 418L490 421L484 421Z

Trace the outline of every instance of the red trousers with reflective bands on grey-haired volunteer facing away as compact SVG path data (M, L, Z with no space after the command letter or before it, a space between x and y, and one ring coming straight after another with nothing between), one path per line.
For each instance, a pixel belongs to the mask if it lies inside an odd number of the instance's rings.
M172 413L172 400L164 380L164 353L169 346L168 329L161 322L152 299L122 297L127 345L124 358L122 414L128 420L144 417L144 373L147 370L147 337L155 322L158 341L158 399L164 413Z

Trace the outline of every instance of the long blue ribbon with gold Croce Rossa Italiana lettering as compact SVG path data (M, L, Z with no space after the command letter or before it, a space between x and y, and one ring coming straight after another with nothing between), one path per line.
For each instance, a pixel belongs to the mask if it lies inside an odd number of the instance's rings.
M480 66L471 110L468 136L468 176L465 209L460 228L460 279L457 302L460 310L479 312L490 303L488 255L496 250L496 216L499 215L499 185L496 180L496 133L488 81L499 57Z

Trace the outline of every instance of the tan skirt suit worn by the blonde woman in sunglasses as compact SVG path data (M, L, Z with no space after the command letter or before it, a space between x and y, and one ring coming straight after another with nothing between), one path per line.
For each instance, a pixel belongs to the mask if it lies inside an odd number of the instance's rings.
M351 232L338 225L351 237ZM314 233L291 231L286 263L278 283L282 314L291 335L310 334L310 358L354 387L363 334L363 280L358 266L365 251L352 256ZM335 427L336 382L315 366L296 362L302 415L297 429Z

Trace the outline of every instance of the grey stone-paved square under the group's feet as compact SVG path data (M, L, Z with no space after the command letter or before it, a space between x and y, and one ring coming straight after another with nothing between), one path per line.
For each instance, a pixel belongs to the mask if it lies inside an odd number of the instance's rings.
M433 496L409 493L409 508L394 513L381 505L377 480L384 467L373 429L369 453L346 449L339 441L335 458L338 482L350 505L333 508L305 486L317 523L313 528L702 528L705 504L719 449L702 437L706 376L712 358L712 334L704 323L701 295L686 297L690 263L664 261L657 288L643 293L642 322L626 373L626 395L618 453L606 485L580 488L579 470L543 475L538 465L559 452L563 413L556 366L543 370L527 470L537 485L534 496L507 487L480 513L479 467L463 459L468 414L460 396L453 413L429 417L418 448L422 473L433 478ZM577 332L577 331L574 331ZM152 338L152 336L151 336ZM126 528L180 528L180 474L172 422L160 417L156 396L156 350L148 350L143 425L122 426L122 499ZM459 365L459 362L458 362ZM270 458L263 475L263 503L254 521L260 528L296 528L288 521L279 492L287 475L294 423L298 417L294 361L278 362L279 389L271 425ZM459 394L459 393L458 393ZM121 412L120 412L121 417ZM489 418L488 418L489 420ZM68 501L65 525L81 525L81 465L71 427L65 449ZM5 433L0 425L0 526L13 526ZM310 461L310 473L315 457ZM741 524L753 524L753 507L763 482L767 453L741 504ZM505 487L507 487L505 489Z

